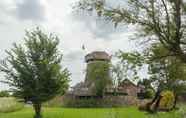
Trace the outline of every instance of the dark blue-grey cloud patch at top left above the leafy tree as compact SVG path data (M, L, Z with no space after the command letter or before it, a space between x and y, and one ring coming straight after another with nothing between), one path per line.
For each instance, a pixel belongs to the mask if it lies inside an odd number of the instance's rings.
M16 12L21 20L45 20L45 7L41 0L23 0L17 3Z

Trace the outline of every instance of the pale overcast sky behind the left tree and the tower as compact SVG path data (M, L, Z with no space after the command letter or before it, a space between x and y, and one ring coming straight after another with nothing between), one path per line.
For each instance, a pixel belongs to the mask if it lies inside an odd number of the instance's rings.
M23 44L25 30L37 26L60 38L63 66L71 73L70 85L84 80L84 56L92 51L106 51L113 55L118 50L131 51L133 28L118 26L95 14L76 12L77 0L0 0L0 59L13 43ZM82 50L82 46L85 50ZM0 76L3 79L3 76ZM8 86L0 83L0 90Z

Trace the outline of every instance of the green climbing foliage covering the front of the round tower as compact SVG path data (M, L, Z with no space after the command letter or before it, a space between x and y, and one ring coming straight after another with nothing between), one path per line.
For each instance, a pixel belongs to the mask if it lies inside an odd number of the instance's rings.
M104 61L94 61L87 66L87 81L94 84L94 91L98 96L102 96L104 89L112 84L110 77L110 64Z

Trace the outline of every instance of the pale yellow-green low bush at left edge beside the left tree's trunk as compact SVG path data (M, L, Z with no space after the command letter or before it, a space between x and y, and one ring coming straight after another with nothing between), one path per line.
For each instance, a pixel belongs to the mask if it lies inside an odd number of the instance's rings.
M20 103L15 98L0 98L0 113L14 112L21 110L24 107L23 103Z

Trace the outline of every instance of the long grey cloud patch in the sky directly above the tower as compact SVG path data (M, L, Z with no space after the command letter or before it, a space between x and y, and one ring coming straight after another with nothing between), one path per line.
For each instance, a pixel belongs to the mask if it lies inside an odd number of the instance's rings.
M95 13L80 12L74 12L72 18L83 23L84 27L96 38L112 40L110 38L112 34L120 34L127 31L127 26L122 25L115 28L111 21L106 21Z

